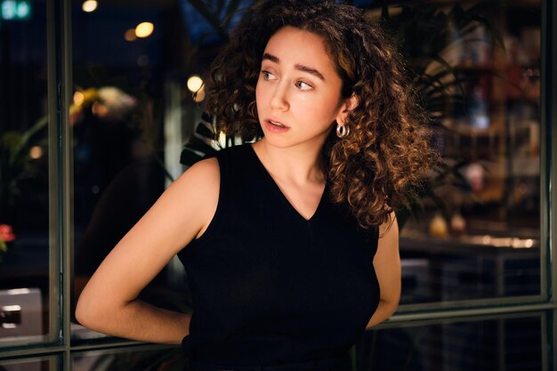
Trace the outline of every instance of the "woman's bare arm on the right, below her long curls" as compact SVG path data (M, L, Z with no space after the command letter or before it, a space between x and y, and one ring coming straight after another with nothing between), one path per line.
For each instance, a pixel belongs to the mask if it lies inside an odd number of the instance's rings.
M389 226L389 222L379 226L379 241L373 264L381 294L379 305L367 322L367 327L375 326L388 319L399 307L401 280L399 225L394 213L390 215L390 218L391 226Z

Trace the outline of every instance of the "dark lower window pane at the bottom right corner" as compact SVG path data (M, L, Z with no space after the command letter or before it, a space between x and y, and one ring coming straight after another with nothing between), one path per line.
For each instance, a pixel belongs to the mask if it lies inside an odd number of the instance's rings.
M542 317L439 321L369 331L356 369L542 371Z

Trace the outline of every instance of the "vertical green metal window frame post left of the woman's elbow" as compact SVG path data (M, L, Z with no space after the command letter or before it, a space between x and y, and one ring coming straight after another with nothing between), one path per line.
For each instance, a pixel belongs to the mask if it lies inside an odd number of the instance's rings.
M58 319L51 320L52 342L62 348L61 368L70 369L69 315L71 303L71 246L72 246L72 142L69 130L69 102L72 92L71 57L71 2L51 0L46 2L48 30L48 96L49 96L49 146L51 190L51 280L58 283L60 305ZM54 285L52 285L54 287ZM52 290L54 291L54 290ZM54 293L51 295L53 296ZM51 301L51 302L52 302ZM55 311L51 310L52 314ZM58 327L58 328L56 328Z

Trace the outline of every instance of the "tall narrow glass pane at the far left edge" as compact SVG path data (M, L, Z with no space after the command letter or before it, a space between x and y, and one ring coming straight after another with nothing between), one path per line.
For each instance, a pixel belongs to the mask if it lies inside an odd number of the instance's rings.
M0 347L49 333L44 1L0 12ZM55 311L54 311L55 312Z

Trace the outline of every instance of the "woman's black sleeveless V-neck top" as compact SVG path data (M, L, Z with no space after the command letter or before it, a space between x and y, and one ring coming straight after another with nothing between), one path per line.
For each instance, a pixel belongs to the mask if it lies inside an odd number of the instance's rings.
M345 356L379 302L377 230L334 206L327 185L304 219L249 144L217 153L213 220L178 254L193 304L186 355L229 366Z

